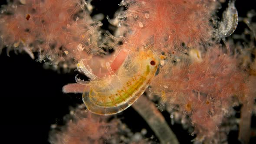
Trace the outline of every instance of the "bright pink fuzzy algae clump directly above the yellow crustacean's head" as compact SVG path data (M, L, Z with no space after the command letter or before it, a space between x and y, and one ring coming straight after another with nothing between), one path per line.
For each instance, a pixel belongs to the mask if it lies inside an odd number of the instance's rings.
M128 40L134 47L154 43L154 49L173 52L196 48L210 42L213 0L124 0L128 7L119 17L121 27L127 26Z

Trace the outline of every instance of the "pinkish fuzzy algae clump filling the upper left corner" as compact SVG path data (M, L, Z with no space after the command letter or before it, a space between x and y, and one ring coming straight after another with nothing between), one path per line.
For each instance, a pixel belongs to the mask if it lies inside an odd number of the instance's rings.
M102 52L98 48L98 28L84 0L14 0L0 15L1 47L25 51L38 61L75 68L74 61Z

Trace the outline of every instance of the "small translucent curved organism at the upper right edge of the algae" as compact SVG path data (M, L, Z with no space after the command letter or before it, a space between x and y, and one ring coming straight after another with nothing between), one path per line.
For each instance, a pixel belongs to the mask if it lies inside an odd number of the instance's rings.
M230 0L228 7L222 14L222 20L218 28L219 39L223 39L234 33L237 24L238 13L235 7L235 0Z

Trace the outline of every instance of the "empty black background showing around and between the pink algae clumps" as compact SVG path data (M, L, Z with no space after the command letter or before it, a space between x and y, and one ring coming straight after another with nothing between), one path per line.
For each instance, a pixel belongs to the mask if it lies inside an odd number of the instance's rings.
M237 0L239 14L256 7L255 0ZM6 3L1 0L0 4ZM112 18L120 0L93 0L96 5L92 13L105 13ZM103 20L103 29L108 22ZM62 117L69 113L69 107L82 103L82 95L63 94L62 86L75 82L75 72L68 74L43 69L43 64L32 60L27 54L3 49L0 55L0 133L4 143L47 144L51 124L62 124ZM170 117L164 113L167 121ZM121 117L133 131L148 128L142 118L132 108L124 111ZM140 125L140 127L138 127ZM172 127L181 143L189 143L193 137L180 125ZM148 131L149 135L152 134ZM157 141L157 139L156 139ZM237 131L229 137L230 143L238 143Z

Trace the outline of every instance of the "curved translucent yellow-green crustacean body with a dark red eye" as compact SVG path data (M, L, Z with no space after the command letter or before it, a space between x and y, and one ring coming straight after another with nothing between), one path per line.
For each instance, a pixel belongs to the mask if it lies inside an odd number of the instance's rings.
M129 52L115 74L96 78L85 85L82 97L86 107L98 115L125 110L148 88L158 64L157 55L150 49Z

